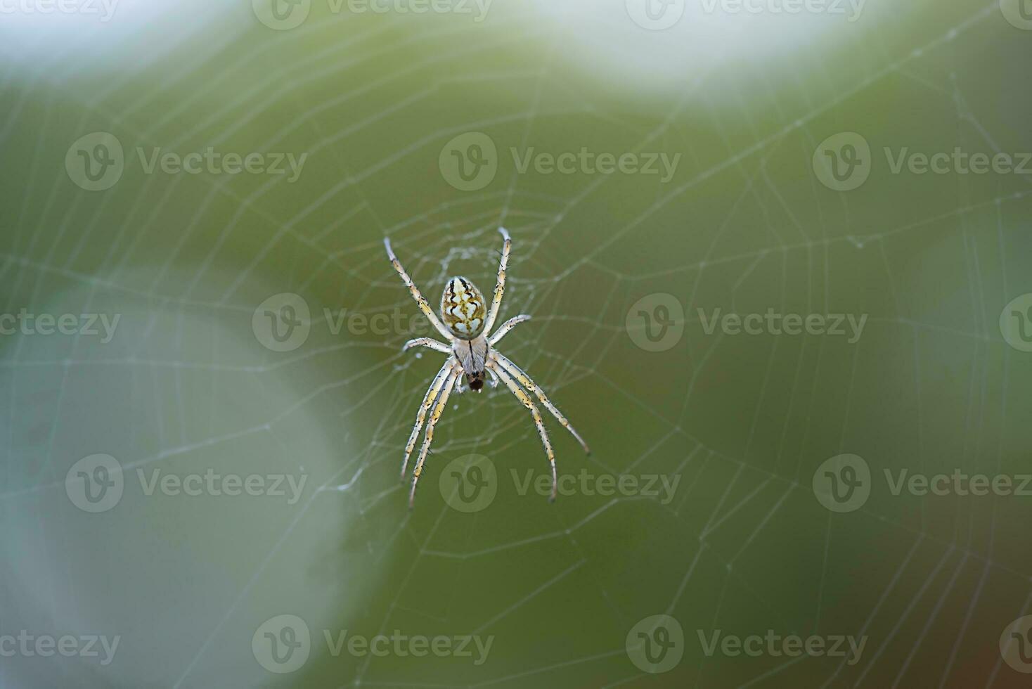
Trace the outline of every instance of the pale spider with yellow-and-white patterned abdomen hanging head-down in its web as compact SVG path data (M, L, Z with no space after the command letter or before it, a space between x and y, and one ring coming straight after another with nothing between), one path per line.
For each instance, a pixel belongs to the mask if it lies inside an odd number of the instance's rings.
M555 419L562 424L562 427L570 431L577 441L584 448L584 452L590 454L587 444L580 434L574 430L567 418L548 399L544 391L530 380L530 376L523 372L516 364L510 361L505 355L494 349L498 341L506 334L516 327L517 324L530 320L529 316L517 316L503 323L493 333L491 328L498 317L498 309L502 306L502 295L506 289L506 265L509 263L509 252L512 249L512 238L505 228L499 227L504 244L502 247L502 261L498 263L498 277L494 286L494 297L491 299L490 309L486 307L484 295L477 286L462 276L452 277L445 286L444 294L441 296L441 318L430 308L430 304L419 292L419 288L412 282L412 277L401 267L397 257L390 248L390 239L384 238L384 247L387 248L387 257L390 258L394 270L401 276L412 298L419 304L419 309L423 311L430 324L437 328L438 332L445 338L439 341L432 337L418 337L405 343L402 351L409 351L414 347L426 347L436 352L447 354L444 366L430 383L423 402L419 406L416 415L416 425L409 435L409 441L405 446L405 461L401 463L401 481L405 481L409 459L412 451L416 447L416 438L419 431L426 422L426 436L423 439L423 447L419 451L419 459L416 461L416 468L412 472L412 490L409 491L409 508L415 502L416 485L419 483L419 474L423 472L423 463L430 450L430 442L433 440L433 427L445 411L448 397L452 389L461 392L460 376L465 376L465 383L471 390L480 392L484 388L484 373L491 376L496 387L501 381L509 390L516 395L516 398L523 403L530 415L534 423L538 427L541 435L541 442L545 446L545 454L548 455L548 462L552 468L552 493L549 502L555 500L557 494L558 481L555 474L555 454L552 452L552 444L548 439L548 431L541 419L541 412L538 405L530 399L530 395L548 409ZM444 323L442 323L444 321ZM431 412L432 407L432 412ZM426 421L426 415L430 415Z

